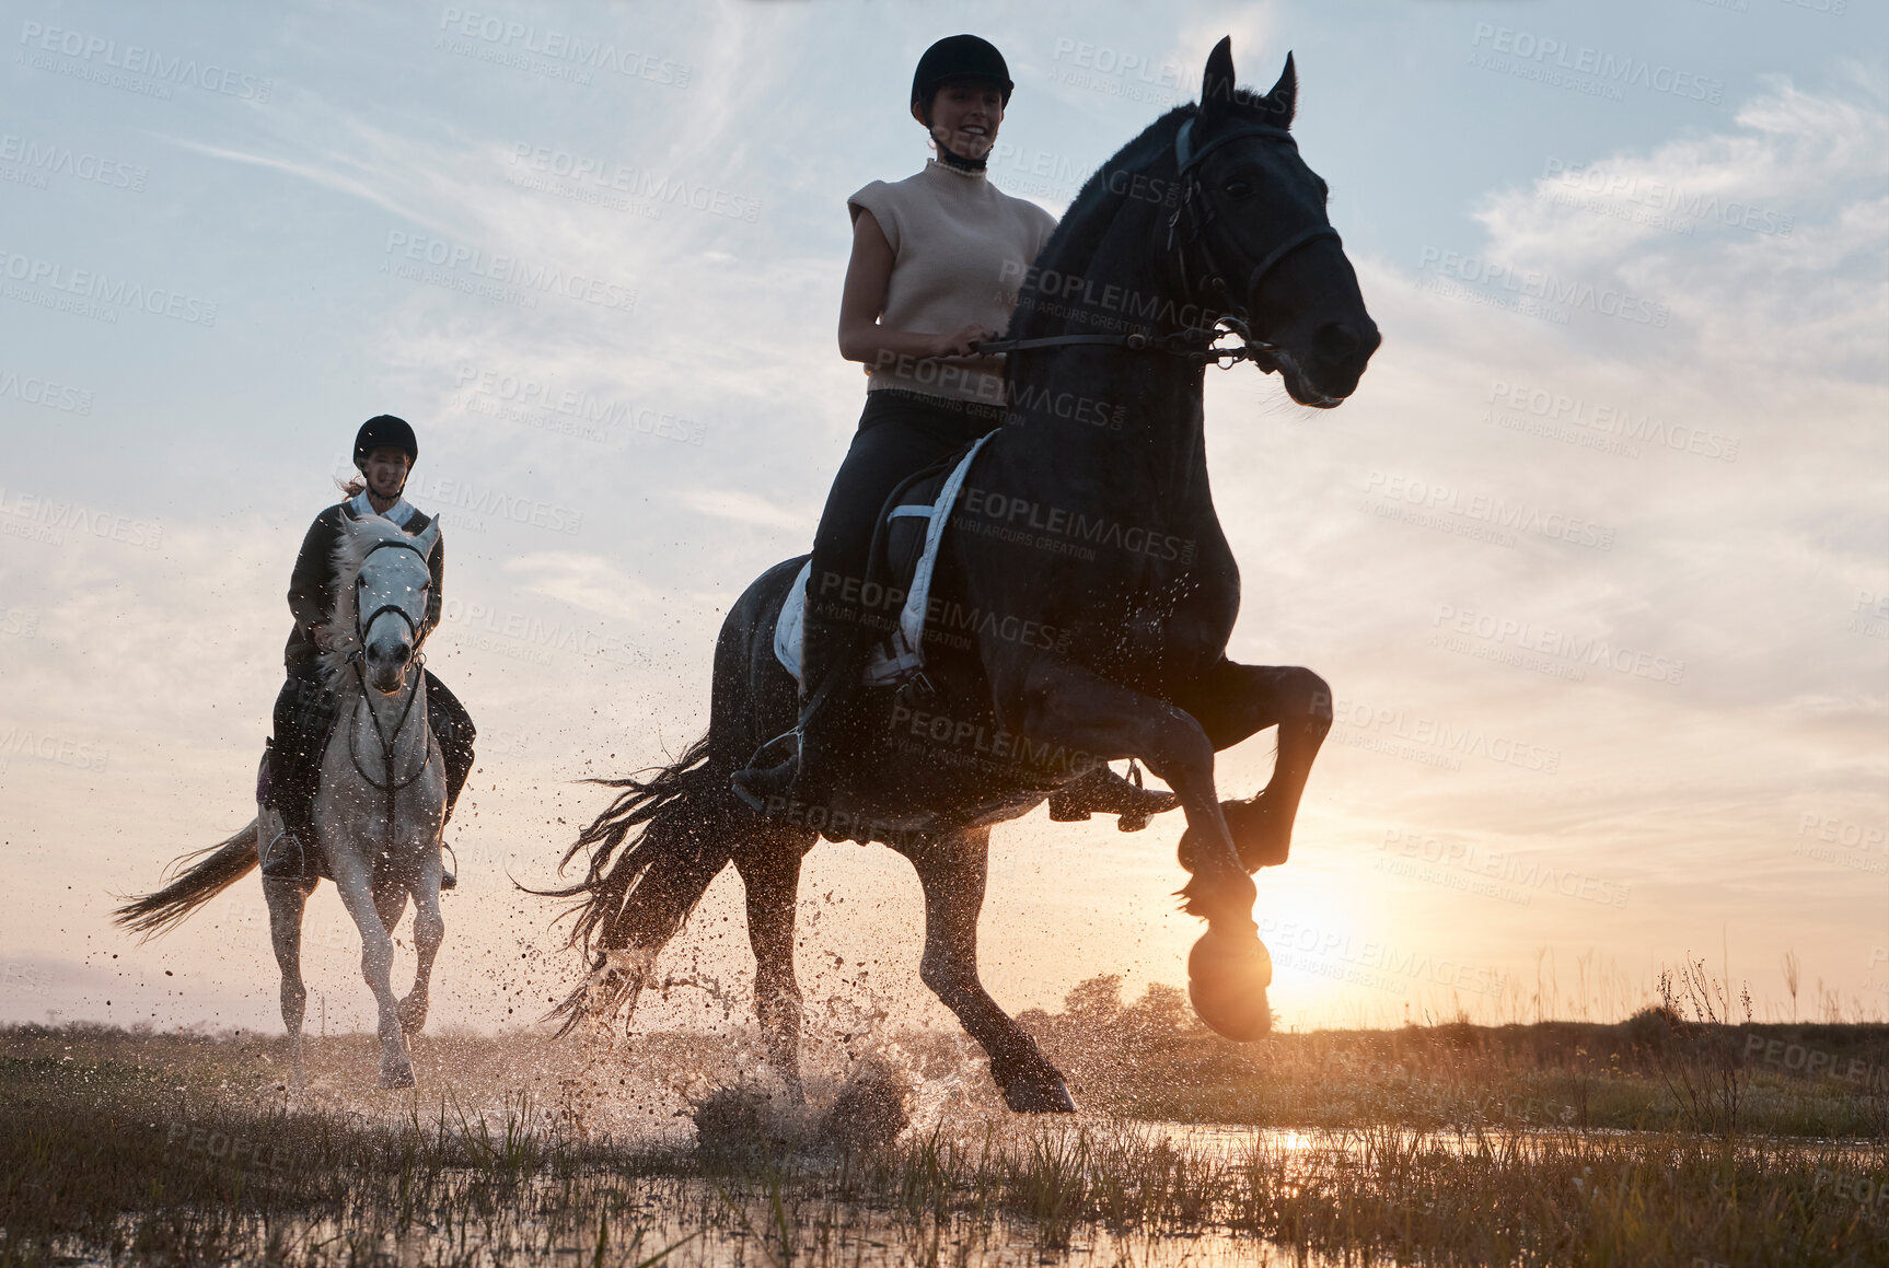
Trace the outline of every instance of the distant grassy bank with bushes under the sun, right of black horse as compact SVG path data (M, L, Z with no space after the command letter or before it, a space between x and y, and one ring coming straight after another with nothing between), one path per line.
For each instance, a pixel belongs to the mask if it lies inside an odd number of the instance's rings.
M1177 1122L1574 1126L1889 1139L1889 1026L1725 1024L1685 1002L1617 1024L1404 1026L1235 1045L1183 992L1094 979L1018 1020L1096 1109Z

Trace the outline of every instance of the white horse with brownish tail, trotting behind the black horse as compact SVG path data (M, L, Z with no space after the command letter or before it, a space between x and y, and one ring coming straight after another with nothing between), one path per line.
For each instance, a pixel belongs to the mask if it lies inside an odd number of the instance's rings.
M349 523L334 552L336 601L331 629L348 631L323 654L336 692L336 724L321 758L315 847L348 915L361 926L361 975L380 1005L380 1087L414 1085L406 1036L427 1022L433 958L446 935L440 918L440 831L446 769L427 728L427 684L419 671L419 629L433 578L427 556L438 522L416 537L382 518ZM117 922L145 937L174 928L196 907L257 865L257 848L280 843L280 816L261 807L229 841L185 854L176 881L117 911ZM281 968L281 1020L293 1047L293 1081L302 1083L302 909L321 877L264 877L268 924ZM412 896L414 988L395 1000L393 926Z

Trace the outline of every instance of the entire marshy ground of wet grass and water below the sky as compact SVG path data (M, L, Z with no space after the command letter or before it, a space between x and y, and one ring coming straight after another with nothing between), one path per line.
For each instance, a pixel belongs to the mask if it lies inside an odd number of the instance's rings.
M757 1041L0 1032L0 1264L1883 1264L1889 1026L1407 1026L1230 1045L1107 983L790 1107Z

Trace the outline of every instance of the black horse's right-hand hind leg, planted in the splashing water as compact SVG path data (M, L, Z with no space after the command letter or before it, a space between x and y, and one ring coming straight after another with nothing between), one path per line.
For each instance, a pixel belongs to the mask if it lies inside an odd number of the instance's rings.
M918 975L990 1054L1003 1104L1024 1113L1075 1113L1069 1088L1037 1041L984 990L977 973L977 913L984 909L990 830L899 850L926 890L926 954Z

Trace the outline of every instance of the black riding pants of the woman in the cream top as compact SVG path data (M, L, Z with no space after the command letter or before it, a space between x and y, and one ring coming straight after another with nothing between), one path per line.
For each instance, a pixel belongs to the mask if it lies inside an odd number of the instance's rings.
M914 391L871 391L846 461L833 476L814 531L807 580L803 675L808 694L829 673L856 673L873 637L897 624L878 588L867 590L878 512L892 491L931 463L1003 423L1003 408ZM878 603L867 603L876 599Z

